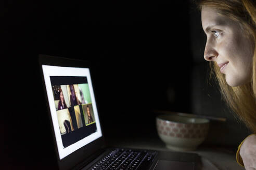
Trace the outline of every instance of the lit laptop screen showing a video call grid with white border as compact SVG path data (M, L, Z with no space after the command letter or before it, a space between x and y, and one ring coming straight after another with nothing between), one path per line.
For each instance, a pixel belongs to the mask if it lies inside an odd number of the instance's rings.
M102 136L89 68L42 65L60 160Z

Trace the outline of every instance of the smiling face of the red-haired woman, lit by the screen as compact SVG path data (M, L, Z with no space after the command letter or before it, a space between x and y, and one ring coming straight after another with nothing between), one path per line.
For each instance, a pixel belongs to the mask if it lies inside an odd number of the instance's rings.
M207 35L204 59L216 62L229 86L251 81L253 40L239 23L219 15L211 7L202 7L202 27Z

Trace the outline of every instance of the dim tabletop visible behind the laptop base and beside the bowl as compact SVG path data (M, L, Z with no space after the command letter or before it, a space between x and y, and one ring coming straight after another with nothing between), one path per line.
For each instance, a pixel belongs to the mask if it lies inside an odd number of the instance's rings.
M112 137L107 139L107 143L115 147L137 148L137 149L151 149L159 151L171 151L163 141L158 137ZM241 170L245 169L236 162L235 149L227 149L223 147L214 146L199 146L195 151L201 157L202 169L207 170Z

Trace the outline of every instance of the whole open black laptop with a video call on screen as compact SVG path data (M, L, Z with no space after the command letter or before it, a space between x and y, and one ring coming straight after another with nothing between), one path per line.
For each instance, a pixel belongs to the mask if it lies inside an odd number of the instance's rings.
M40 54L39 63L60 170L199 166L195 153L107 147L89 62Z

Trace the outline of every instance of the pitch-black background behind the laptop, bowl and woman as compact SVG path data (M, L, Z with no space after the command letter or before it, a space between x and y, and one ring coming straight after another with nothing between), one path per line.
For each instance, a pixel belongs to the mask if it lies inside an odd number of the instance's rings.
M237 147L249 134L207 81L206 37L190 1L9 0L2 16L8 168L55 162L39 54L92 63L106 136L156 134L156 109L227 118L212 122L208 145Z

